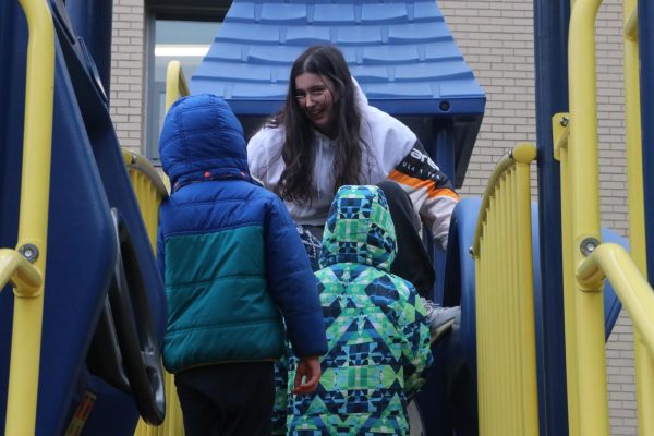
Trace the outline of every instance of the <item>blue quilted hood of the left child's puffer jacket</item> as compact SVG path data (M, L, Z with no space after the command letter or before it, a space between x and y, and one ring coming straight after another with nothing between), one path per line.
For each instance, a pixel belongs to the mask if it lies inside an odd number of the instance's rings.
M204 180L251 180L243 128L215 95L187 96L170 107L159 156L173 191Z

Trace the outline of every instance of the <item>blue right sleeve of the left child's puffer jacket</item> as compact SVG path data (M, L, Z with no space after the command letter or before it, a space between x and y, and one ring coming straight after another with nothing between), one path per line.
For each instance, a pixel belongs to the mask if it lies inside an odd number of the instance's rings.
M327 339L317 281L295 225L276 196L264 232L266 279L283 315L293 352L298 358L323 355Z

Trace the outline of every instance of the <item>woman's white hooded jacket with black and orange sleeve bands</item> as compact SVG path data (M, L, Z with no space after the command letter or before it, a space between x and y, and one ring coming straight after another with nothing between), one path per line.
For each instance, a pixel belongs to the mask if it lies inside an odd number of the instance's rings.
M415 134L399 120L368 105L359 84L355 104L361 113L359 135L363 148L361 177L364 184L384 180L399 183L409 194L416 213L432 230L435 242L447 247L450 216L459 196L447 175L429 158ZM308 121L307 121L308 122ZM264 126L247 143L252 174L270 191L279 183L286 168L281 149L286 141L283 125ZM296 223L323 226L334 198L335 147L331 140L315 131L316 147L313 168L314 198L304 204L286 202ZM336 186L338 187L338 186Z

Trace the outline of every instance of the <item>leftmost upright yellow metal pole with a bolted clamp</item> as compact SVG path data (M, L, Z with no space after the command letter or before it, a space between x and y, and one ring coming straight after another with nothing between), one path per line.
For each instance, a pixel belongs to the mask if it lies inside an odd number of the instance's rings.
M55 96L55 26L46 1L21 0L29 39L17 250L0 251L0 289L16 296L7 400L8 435L33 435L44 313Z

